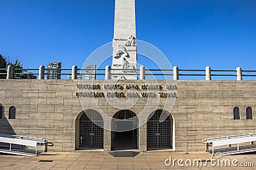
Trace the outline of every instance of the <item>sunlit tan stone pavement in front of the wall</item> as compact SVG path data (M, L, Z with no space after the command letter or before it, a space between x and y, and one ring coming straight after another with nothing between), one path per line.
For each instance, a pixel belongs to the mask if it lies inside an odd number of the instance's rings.
M172 157L173 159L182 159L184 167L178 166L175 161L175 166L165 166L164 160ZM244 165L252 162L256 166L256 153L248 153L242 155L229 155L220 159L220 166L211 166L211 162L206 159L217 159L212 157L210 153L196 152L196 153L140 153L136 157L113 157L109 153L92 153L92 152L45 152L37 157L24 157L17 155L0 154L0 169L183 169L188 166L185 161L190 159L202 160L202 166L192 166L189 169L218 169L221 167L221 160L230 160L230 167L224 166L221 169L253 169L253 167L239 167L243 162ZM237 159L232 165L232 160ZM43 162L42 162L43 161ZM46 162L48 161L48 162ZM207 166L204 164L207 162ZM168 162L166 162L168 163ZM187 162L189 164L189 162ZM214 162L212 162L214 165Z

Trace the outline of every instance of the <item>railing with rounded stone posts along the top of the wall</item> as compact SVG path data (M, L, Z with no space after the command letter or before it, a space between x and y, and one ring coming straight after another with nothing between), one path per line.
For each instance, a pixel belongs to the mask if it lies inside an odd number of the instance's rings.
M111 73L111 71L120 71L120 73ZM35 78L47 79L48 75L60 75L61 79L84 79L85 76L93 76L97 80L106 79L106 74L112 75L136 75L138 79L142 75L145 76L146 80L157 79L157 80L243 80L243 78L256 78L256 70L242 70L241 67L237 69L211 69L210 67L205 69L179 69L173 67L173 69L125 69L129 73L124 73L124 69L110 69L107 73L106 69L0 69L0 76L2 78L6 76L6 79L12 78ZM54 73L55 72L55 73ZM130 73L132 72L132 73ZM34 77L33 77L34 76ZM205 79L204 79L205 77ZM109 79L109 78L108 78ZM256 80L256 79L254 79Z

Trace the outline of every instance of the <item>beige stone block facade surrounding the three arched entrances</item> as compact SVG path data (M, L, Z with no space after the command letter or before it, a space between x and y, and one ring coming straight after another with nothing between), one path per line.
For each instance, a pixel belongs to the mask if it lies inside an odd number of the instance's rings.
M115 83L115 80L108 80ZM89 81L88 81L89 82ZM176 81L175 81L176 82ZM94 103L81 106L77 97L79 80L0 80L0 104L4 108L0 132L45 138L50 151L74 151L78 146L79 117L83 110L95 109ZM103 80L93 84L102 85ZM136 85L142 80L122 80ZM166 84L159 81L160 84ZM172 84L173 81L167 81ZM177 81L178 97L170 112L173 118L173 150L175 152L204 151L202 139L255 132L255 120L246 120L246 108L256 108L256 81ZM113 117L119 109L104 98L93 98L99 108ZM122 101L122 99L120 99ZM163 110L166 99L155 104ZM138 98L129 108L139 114L145 98ZM16 118L8 118L11 106ZM234 120L233 109L239 107L241 120ZM84 108L85 107L85 108ZM154 110L146 110L150 113ZM253 116L255 113L253 112ZM104 125L105 126L105 125ZM139 150L147 151L147 125L139 128ZM111 148L111 132L104 130L104 152Z

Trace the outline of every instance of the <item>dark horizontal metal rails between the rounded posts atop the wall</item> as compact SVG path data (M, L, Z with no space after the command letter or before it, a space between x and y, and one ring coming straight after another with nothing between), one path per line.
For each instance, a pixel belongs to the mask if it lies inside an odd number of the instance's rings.
M241 69L241 68L240 68ZM134 72L130 72L130 73L124 73L122 70L125 71L134 71ZM22 71L31 71L31 73L22 73ZM58 73L49 73L49 71L56 71ZM140 69L111 69L110 71L122 71L122 73L110 73L111 75L136 75L136 76L140 76ZM175 72L177 71L177 72ZM5 72L5 73L4 73ZM80 72L80 73L79 73ZM86 69L86 68L77 68L76 69L76 75L77 76L84 76L84 75L95 75L95 76L100 76L100 79L104 79L104 75L106 74L106 69L105 68L97 68L97 69ZM202 73L203 72L203 73ZM67 78L71 78L72 73L74 73L74 71L70 68L63 68L63 69L53 69L53 68L45 68L43 70L43 72L40 72L40 69L36 69L36 68L24 68L24 69L12 69L12 74L13 76L16 75L16 78L20 78L19 75L39 75L40 73L45 76L45 75L67 75ZM238 74L237 70L232 70L232 69L210 69L209 73L206 73L205 69L145 69L145 76L157 76L156 79L161 80L161 78L163 78L163 76L173 76L175 77L178 76L178 80L179 80L179 76L180 77L202 77L202 76L212 76L212 77L226 77L228 80L230 80L228 77L236 77L237 76L237 80L238 76L240 75L240 77L246 77L249 78L252 77L253 80L255 80L254 78L256 77L256 70L246 70L246 69L241 69L241 74ZM8 74L8 69L0 69L0 75L6 75L6 77L10 74ZM42 77L42 76L40 76ZM76 77L76 76L74 76ZM3 78L3 76L2 76ZM30 77L29 77L30 78ZM98 78L98 77L97 77ZM170 77L168 77L170 78ZM170 78L172 79L172 78ZM241 78L242 79L242 78ZM187 80L190 80L189 78ZM193 80L193 78L192 78ZM225 80L225 79L224 79ZM236 80L234 78L234 80Z

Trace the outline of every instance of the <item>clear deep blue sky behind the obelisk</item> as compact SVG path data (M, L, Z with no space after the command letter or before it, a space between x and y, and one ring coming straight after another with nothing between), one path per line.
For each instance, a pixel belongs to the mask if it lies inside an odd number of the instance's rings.
M0 53L38 68L112 41L115 0L0 0ZM255 0L136 0L137 39L180 69L256 69Z

